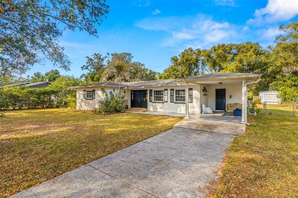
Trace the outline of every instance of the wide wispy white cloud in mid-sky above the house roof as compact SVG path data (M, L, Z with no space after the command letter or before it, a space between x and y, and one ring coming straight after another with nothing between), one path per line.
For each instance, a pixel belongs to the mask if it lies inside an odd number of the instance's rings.
M163 45L178 48L207 48L218 43L235 42L236 28L228 22L213 21L203 14L187 17L154 17L136 21L135 26L167 32ZM241 31L241 29L240 29Z

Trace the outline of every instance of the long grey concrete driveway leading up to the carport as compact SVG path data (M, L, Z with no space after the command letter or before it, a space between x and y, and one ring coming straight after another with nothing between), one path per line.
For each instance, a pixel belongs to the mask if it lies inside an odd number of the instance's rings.
M188 128L183 121L12 197L204 197L237 135Z

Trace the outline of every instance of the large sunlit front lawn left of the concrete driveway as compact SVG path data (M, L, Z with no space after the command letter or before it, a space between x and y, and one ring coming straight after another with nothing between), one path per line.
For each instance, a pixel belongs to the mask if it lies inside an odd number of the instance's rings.
M11 110L0 118L0 197L167 131L182 117Z

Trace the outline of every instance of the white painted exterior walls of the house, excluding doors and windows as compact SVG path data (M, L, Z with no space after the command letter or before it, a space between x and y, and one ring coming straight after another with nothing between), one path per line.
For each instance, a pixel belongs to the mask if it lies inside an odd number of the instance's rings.
M204 86L207 88L207 93L203 92ZM99 107L99 101L103 95L100 91L104 88L108 93L110 91L117 93L117 87L82 87L77 88L77 109L91 110L94 107ZM228 103L242 103L242 85L190 85L189 88L193 88L193 102L189 104L189 112L191 114L201 113L201 104L205 104L206 107L211 107L215 111L215 89L226 89L226 105ZM83 90L95 89L95 99L86 100L83 98ZM115 89L115 91L114 91ZM148 111L159 111L159 112L185 112L185 103L171 103L170 102L170 89L185 89L184 86L160 86L160 87L145 87L143 89L121 89L122 94L125 95L125 103L128 104L128 108L131 107L131 90L148 90ZM153 103L149 102L149 89L152 90L163 90L168 89L168 102L164 103ZM125 93L124 93L125 91ZM203 94L207 94L203 96ZM229 98L232 95L232 98Z

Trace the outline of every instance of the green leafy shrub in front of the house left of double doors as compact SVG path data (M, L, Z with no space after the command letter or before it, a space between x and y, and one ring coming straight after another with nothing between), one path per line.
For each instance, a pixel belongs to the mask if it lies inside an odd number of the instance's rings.
M111 93L109 95L105 89L102 88L101 92L103 94L103 99L100 101L100 112L112 113L123 111L125 106L125 96L122 95L121 91L117 94Z

